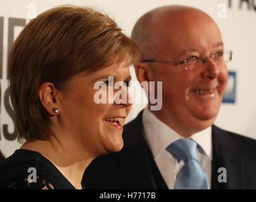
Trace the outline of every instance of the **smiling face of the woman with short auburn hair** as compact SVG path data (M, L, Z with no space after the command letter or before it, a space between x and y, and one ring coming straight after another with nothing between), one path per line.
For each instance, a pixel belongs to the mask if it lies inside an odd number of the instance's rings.
M60 95L61 128L75 145L93 156L122 149L123 126L132 105L130 80L127 62L75 76L71 90ZM120 88L113 89L115 84Z

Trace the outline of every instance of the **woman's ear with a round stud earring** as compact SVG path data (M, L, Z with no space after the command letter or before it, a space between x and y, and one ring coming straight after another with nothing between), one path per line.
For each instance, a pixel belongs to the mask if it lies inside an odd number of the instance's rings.
M43 83L38 92L42 106L52 116L60 114L60 107L56 102L56 93L57 89L51 82Z

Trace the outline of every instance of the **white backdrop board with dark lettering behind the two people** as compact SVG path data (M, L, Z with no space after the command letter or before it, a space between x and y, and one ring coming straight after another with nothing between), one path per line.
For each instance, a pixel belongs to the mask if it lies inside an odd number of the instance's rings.
M16 142L13 110L10 105L6 59L8 50L23 26L35 15L62 4L93 6L115 18L127 35L136 20L158 6L184 4L202 9L219 25L224 44L234 51L227 93L232 102L222 104L215 124L223 129L256 139L256 0L1 0L0 1L0 150L8 157L20 145ZM226 9L225 9L226 8ZM132 69L132 80L136 80ZM230 97L229 96L229 97ZM127 122L134 119L146 104L135 104Z

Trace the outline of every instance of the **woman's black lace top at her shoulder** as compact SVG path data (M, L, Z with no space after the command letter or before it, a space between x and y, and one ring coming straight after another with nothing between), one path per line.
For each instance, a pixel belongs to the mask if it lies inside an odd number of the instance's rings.
M82 184L84 188L84 185ZM0 166L0 189L75 189L47 158L16 150Z

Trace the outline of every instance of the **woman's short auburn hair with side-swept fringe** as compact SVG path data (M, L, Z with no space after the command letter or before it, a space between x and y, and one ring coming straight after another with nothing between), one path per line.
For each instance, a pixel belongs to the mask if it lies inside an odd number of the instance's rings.
M23 28L8 56L18 141L48 140L51 134L50 115L38 95L42 83L67 90L79 73L124 60L132 65L138 59L137 45L101 11L67 5L38 15Z

